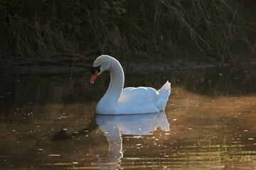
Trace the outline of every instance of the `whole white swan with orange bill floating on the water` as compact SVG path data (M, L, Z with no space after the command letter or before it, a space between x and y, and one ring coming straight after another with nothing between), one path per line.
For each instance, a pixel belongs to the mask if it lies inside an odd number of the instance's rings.
M171 93L169 81L156 91L151 87L124 88L124 71L121 64L108 55L97 57L92 67L92 84L97 75L108 70L110 86L106 94L97 103L96 113L102 115L128 115L158 113L164 111Z

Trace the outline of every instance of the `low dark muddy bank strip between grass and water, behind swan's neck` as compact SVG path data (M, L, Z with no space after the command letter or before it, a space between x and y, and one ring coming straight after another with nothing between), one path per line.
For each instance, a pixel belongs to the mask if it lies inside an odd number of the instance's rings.
M91 57L58 57L51 60L48 59L21 59L15 62L4 62L1 64L1 74L14 74L14 75L49 75L49 74L67 74L72 77L73 74L82 72L90 72L90 68L96 55ZM134 62L119 60L122 64L124 72L147 72L147 71L171 71L171 70L185 70L185 69L198 69L210 67L238 67L239 65L256 64L256 62L247 63L225 63L220 62L164 62L164 61L145 61Z

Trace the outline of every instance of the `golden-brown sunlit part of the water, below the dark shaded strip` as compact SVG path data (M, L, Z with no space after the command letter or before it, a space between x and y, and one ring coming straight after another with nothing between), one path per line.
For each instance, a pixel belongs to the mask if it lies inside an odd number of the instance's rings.
M84 90L60 81L50 102L3 107L0 169L256 169L253 93L214 96L177 84L165 112L107 116L95 115L106 87L74 81Z

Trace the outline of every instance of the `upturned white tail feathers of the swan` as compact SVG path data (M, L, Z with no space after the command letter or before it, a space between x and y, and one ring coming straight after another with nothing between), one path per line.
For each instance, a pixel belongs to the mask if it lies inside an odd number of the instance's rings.
M164 86L162 86L161 89L158 90L158 92L160 98L159 101L157 101L156 106L159 108L160 111L164 111L169 95L171 94L171 83L169 83L169 81L166 81L166 84L164 84Z

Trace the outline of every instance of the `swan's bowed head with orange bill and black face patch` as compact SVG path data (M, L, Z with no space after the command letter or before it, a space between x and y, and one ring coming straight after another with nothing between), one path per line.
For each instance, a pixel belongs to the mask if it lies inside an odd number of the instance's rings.
M111 58L112 57L108 55L101 55L100 57L97 57L91 69L92 78L89 80L89 84L92 84L100 73L110 69Z

